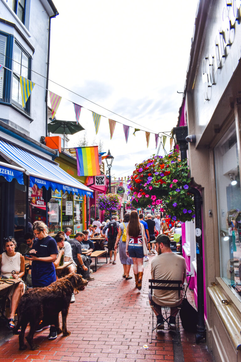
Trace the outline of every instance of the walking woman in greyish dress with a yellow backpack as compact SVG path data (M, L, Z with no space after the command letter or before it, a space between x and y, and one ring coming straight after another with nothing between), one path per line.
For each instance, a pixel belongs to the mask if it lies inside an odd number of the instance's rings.
M123 278L126 280L132 279L132 276L130 273L130 266L133 264L132 258L128 257L126 255L126 229L128 226L128 223L130 221L130 214L126 212L124 215L123 222L120 223L118 235L116 237L116 243L115 243L115 250L117 251L117 244L119 242L119 255L120 255L120 261L124 268L124 273L122 275Z

